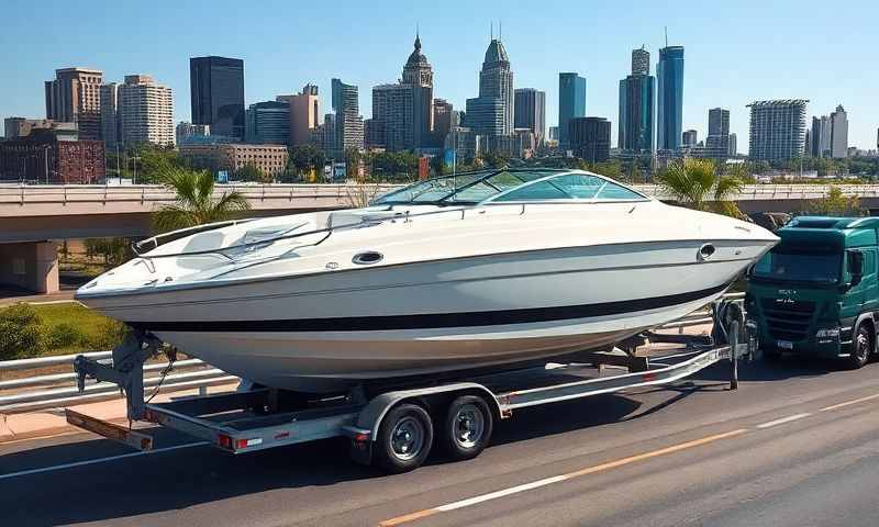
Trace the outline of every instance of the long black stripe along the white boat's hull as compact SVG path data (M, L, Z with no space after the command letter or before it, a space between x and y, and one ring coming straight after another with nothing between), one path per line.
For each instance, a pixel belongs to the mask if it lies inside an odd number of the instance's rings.
M431 313L419 315L347 316L335 318L298 318L272 321L192 321L130 322L129 325L151 332L363 332L388 329L433 329L443 327L500 326L537 322L569 321L593 316L620 315L686 304L723 291L723 283L701 291L653 296L648 299L602 302L505 311L468 313Z

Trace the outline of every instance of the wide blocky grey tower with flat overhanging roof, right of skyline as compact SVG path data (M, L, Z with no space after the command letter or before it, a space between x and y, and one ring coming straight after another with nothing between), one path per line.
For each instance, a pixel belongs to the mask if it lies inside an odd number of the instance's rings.
M755 101L750 108L748 156L758 161L797 158L803 152L808 100Z

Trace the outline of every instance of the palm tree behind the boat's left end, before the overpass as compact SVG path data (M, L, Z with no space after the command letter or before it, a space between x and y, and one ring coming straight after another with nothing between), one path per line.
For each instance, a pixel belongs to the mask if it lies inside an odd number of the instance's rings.
M229 220L232 214L247 211L251 204L241 192L224 192L213 199L213 177L204 170L169 168L162 176L166 188L177 193L177 202L163 205L153 215L153 226L159 233L193 227Z

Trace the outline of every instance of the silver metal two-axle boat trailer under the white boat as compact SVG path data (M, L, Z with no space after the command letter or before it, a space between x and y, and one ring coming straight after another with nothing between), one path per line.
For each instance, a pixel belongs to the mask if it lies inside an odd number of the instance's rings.
M78 386L86 378L113 382L124 392L129 426L119 426L66 410L68 423L141 450L153 439L134 422L183 431L232 453L346 437L352 457L387 472L404 472L424 462L434 442L452 459L478 456L488 445L493 423L520 408L535 407L624 390L669 384L730 361L730 389L738 386L737 362L757 352L754 329L745 323L741 301L711 305L710 335L647 332L611 352L588 352L578 362L547 363L453 381L414 382L392 389L356 389L345 395L309 399L304 394L253 386L215 395L181 397L165 403L144 401L143 366L159 352L176 350L154 336L132 332L113 349L112 366L77 357ZM674 344L666 354L643 354L645 344ZM622 348L622 349L621 349ZM626 372L619 373L621 370ZM612 371L612 373L608 373Z

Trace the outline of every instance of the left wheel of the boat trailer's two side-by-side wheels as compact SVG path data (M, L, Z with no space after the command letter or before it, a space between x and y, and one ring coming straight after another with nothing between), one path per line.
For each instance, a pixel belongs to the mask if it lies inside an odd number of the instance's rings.
M400 404L381 419L374 464L389 473L409 472L427 459L433 445L431 416L416 404Z

